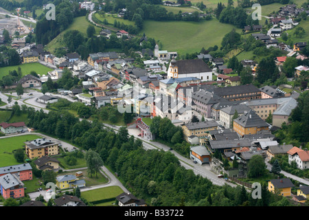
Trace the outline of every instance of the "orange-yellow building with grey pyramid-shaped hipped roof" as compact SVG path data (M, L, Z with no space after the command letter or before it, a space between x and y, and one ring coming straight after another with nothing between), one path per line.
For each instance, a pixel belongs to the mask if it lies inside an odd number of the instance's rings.
M233 130L241 136L254 135L258 131L268 130L268 126L253 110L245 111L233 120Z

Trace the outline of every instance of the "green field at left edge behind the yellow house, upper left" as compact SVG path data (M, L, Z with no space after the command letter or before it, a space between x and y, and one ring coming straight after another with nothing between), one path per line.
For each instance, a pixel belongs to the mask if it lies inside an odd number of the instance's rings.
M13 71L14 69L18 71L19 67L21 67L21 72L23 73L23 76L30 74L30 72L32 71L35 71L37 74L40 74L42 76L43 74L47 74L47 72L53 70L49 67L45 67L45 65L42 65L41 63L24 63L12 67L1 67L0 78L8 75L9 71Z

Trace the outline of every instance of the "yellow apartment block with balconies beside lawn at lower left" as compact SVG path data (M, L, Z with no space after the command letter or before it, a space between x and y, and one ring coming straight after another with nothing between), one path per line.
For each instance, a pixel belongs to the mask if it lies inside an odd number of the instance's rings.
M52 142L52 140L48 140L45 137L24 143L25 153L30 159L41 158L47 155L58 155L60 153L59 143Z

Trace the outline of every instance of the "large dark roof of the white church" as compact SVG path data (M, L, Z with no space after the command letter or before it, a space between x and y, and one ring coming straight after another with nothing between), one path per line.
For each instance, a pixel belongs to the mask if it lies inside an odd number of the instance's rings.
M176 61L175 65L178 67L178 74L211 72L207 63L202 59Z

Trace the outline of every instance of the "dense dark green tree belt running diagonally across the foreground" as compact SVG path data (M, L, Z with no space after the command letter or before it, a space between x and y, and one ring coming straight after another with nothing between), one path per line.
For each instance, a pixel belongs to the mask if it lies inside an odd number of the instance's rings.
M73 144L98 153L104 164L118 173L124 186L150 206L291 205L285 197L268 192L266 185L262 186L262 199L253 199L240 186L216 186L180 166L172 153L144 150L142 141L129 136L125 127L115 133L98 120L80 121L67 111L44 113L30 107L27 113L27 126L50 135L62 133Z

